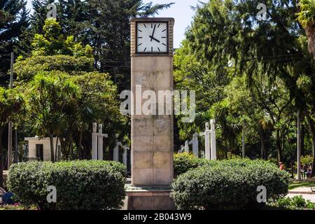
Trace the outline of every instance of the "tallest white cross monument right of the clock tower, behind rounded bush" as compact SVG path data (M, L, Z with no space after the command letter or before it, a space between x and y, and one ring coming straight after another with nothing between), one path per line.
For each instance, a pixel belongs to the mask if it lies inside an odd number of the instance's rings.
M205 158L207 160L216 160L216 123L214 119L210 123L211 130L209 130L209 123L206 123L206 130L200 133L200 136L204 136Z

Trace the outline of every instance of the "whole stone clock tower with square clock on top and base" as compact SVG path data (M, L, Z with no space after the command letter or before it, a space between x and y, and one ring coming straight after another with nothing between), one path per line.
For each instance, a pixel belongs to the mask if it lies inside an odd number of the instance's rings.
M173 209L169 185L173 180L172 113L164 112L163 91L173 91L173 18L132 18L132 187L127 191L128 209ZM139 86L141 89L139 91ZM158 99L144 113L139 98L152 90ZM151 96L152 97L152 96ZM160 102L163 102L161 104ZM169 105L168 105L169 106ZM160 111L160 109L163 109ZM168 109L166 109L167 111ZM164 188L165 190L158 190ZM148 190L149 189L149 190Z

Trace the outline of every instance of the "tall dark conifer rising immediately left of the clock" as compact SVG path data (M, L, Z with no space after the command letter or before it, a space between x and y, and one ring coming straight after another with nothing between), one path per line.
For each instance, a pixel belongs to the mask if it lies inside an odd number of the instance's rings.
M42 29L53 0L33 0L31 27L34 34ZM94 68L111 74L118 90L130 89L130 18L157 14L172 3L143 3L142 0L61 0L57 6L57 20L62 34L74 36L74 41L92 47Z

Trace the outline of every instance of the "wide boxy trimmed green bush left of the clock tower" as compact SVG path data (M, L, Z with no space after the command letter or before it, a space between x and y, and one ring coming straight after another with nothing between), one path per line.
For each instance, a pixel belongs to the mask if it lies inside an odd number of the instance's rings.
M125 176L118 162L21 162L10 167L8 189L18 202L38 209L119 209ZM47 202L48 186L57 189L57 203Z

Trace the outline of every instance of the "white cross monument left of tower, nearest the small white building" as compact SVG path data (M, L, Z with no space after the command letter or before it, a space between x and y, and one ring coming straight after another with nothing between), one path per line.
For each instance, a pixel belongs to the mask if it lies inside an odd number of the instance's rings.
M97 123L93 123L92 128L92 160L103 160L103 139L107 138L107 134L103 134L103 125L99 124L99 132L97 133Z

